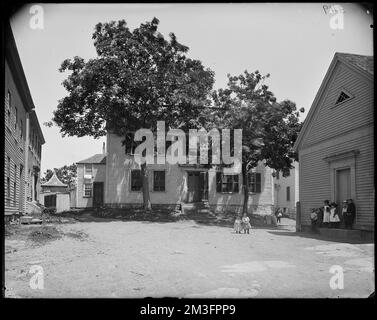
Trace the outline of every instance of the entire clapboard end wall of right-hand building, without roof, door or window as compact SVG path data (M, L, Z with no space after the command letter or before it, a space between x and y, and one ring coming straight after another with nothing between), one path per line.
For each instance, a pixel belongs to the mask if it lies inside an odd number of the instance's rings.
M342 88L354 98L335 106ZM354 227L374 230L373 81L338 64L319 103L299 151L302 224L310 224L310 208L322 206L325 199L336 201L333 169L325 158L357 150L351 184L357 209Z

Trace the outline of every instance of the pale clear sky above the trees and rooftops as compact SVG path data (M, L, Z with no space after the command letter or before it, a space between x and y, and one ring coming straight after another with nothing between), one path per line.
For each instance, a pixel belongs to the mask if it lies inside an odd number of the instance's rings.
M226 86L227 74L269 73L266 84L277 100L304 107L302 119L335 52L373 55L372 13L351 3L341 3L343 26L339 18L337 29L331 24L336 13L324 9L328 3L37 5L41 29L30 25L33 4L11 17L11 27L46 140L42 172L102 152L105 138L63 138L58 127L43 125L67 95L61 84L67 74L58 71L63 60L96 56L92 34L98 22L124 19L133 30L156 17L164 36L174 32L190 48L189 57L215 72L214 89Z

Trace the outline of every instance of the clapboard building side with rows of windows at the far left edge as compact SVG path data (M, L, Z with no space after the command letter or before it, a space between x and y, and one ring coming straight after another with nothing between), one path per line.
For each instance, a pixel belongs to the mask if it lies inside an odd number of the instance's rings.
M45 143L9 23L5 26L4 211L39 210L40 167Z

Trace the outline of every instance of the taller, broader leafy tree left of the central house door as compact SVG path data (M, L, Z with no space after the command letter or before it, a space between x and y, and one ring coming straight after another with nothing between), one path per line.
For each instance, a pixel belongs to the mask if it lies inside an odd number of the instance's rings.
M124 20L98 23L93 33L97 57L65 60L69 72L53 122L68 136L98 138L107 131L127 146L140 128L155 132L157 120L167 127L196 127L210 100L214 73L187 57L188 47L158 31L159 20L131 31ZM141 165L144 208L151 210L148 171Z

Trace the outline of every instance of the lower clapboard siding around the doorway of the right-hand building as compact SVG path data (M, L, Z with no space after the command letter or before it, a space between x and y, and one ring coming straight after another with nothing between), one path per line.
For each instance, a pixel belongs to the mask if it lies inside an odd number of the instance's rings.
M355 134L349 134L352 136ZM339 139L338 139L339 140ZM320 148L320 147L318 147ZM323 160L330 154L359 150L356 157L356 199L355 228L372 229L374 225L374 145L372 131L354 139L347 138L341 143L328 142L322 149L300 152L300 202L302 224L310 224L310 209L323 205L331 199L330 167Z

